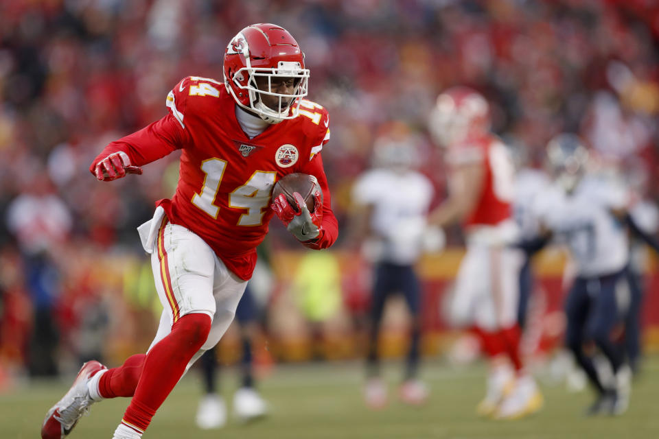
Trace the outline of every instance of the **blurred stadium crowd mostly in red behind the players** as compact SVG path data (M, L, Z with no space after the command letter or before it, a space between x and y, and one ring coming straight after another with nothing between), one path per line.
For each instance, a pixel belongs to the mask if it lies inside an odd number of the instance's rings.
M221 80L224 48L245 25L282 25L305 51L310 99L332 118L323 158L345 230L373 140L402 124L424 139L423 170L443 197L426 115L454 84L492 102L494 131L531 165L553 134L579 132L656 200L659 5L649 3L2 1L0 388L25 370L52 375L148 346L157 299L135 228L171 195L178 154L112 184L87 168L106 143L162 117L181 78ZM275 223L270 252L302 253ZM355 249L340 237L342 251Z

